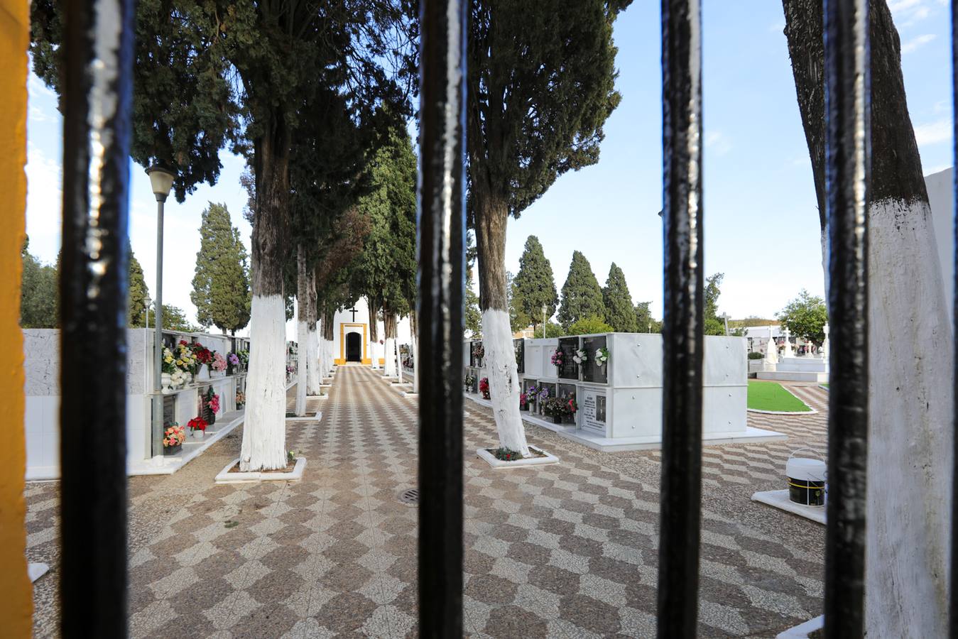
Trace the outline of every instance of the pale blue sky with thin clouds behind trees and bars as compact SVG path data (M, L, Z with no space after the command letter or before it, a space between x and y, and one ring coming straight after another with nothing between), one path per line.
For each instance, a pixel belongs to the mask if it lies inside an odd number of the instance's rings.
M801 288L822 294L818 214L782 5L778 0L705 0L705 270L723 272L719 309L770 316ZM947 0L890 0L901 34L902 69L924 173L952 164L950 24ZM605 125L599 163L559 178L512 220L507 268L517 272L529 235L542 242L561 287L580 250L604 284L611 262L626 273L634 301L662 309L661 71L659 3L635 0L619 17L616 85L623 96ZM59 248L60 118L56 97L31 76L27 228L31 250L53 262ZM190 303L200 213L224 202L249 243L241 217L243 160L223 151L215 187L166 209L165 301ZM152 291L155 201L142 167L131 166L130 240Z

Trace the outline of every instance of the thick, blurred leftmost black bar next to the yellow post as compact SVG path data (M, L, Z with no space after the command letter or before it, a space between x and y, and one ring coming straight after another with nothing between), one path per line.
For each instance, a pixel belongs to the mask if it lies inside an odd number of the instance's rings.
M133 2L64 9L60 630L125 637Z

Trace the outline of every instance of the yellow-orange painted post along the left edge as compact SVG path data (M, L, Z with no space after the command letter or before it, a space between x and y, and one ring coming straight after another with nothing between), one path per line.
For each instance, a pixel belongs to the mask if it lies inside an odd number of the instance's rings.
M23 499L23 333L20 249L27 204L27 47L30 3L0 0L0 619L5 637L29 637L33 586L27 576ZM14 302L15 301L15 302ZM11 303L12 302L12 303Z

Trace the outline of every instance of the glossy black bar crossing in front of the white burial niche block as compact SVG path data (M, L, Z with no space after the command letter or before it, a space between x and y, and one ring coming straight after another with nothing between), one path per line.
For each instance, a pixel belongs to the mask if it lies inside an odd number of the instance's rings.
M662 487L658 636L695 637L702 459L700 0L662 0Z

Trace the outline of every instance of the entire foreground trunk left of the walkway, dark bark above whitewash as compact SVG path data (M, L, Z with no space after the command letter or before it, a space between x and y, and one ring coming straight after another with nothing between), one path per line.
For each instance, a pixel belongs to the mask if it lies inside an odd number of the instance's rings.
M256 141L249 377L239 467L285 468L285 262L289 131L282 118Z

